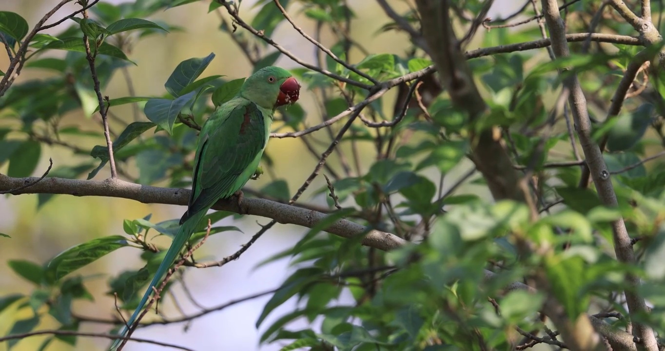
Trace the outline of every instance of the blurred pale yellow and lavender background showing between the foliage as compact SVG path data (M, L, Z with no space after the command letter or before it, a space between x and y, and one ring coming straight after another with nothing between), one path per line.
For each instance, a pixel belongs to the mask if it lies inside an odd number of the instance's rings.
M119 3L122 1L111 2ZM400 8L402 3L401 1L389 2L394 4L396 8ZM0 11L15 11L23 15L32 28L43 13L49 11L55 3L56 1L52 0L2 0L0 1ZM243 1L243 17L245 19L248 19L251 13L250 3L249 0ZM352 25L354 28L352 36L361 39L366 47L374 53L404 54L407 45L406 37L399 37L391 32L378 35L378 37L372 39L377 29L387 22L386 17L382 15L374 1L351 0L349 3L358 15ZM515 11L521 4L522 1L495 1L489 16L507 15ZM207 6L208 2L205 1L170 9L158 15L157 18L159 19L181 25L186 29L186 32L149 37L140 42L140 45L129 55L130 59L138 64L138 66L131 67L130 72L134 78L136 93L139 96L162 94L164 92L164 82L178 62L191 57L204 57L210 52L217 56L203 73L203 76L227 74L230 78L237 78L251 73L249 66L242 62L237 47L231 43L227 35L216 31L219 20L214 14L207 14ZM53 19L60 19L68 15L73 9L76 9L76 5L70 4L58 11ZM303 25L303 28L306 30L312 28L311 21L307 21L301 15L296 15L297 5L289 7L289 12L295 17L296 21ZM381 16L376 18L374 16L376 13L381 13ZM54 29L50 33L56 34L58 31L58 29ZM273 37L299 57L309 62L315 62L313 59L313 45L299 37L287 23L280 25ZM327 39L329 40L324 40L323 43L331 45L331 37ZM469 47L469 49L475 49L475 47ZM358 62L360 59L362 57L357 54L352 57L354 62ZM277 64L287 68L295 66L289 59L281 59ZM5 70L6 66L7 58L0 55L0 69ZM39 74L43 74L43 72L24 70L20 80L36 78ZM126 86L120 72L114 76L111 85L104 91L104 94L112 97L127 95ZM301 98L299 103L307 105L306 100L307 98ZM126 112L129 112L129 110L126 110ZM78 121L81 118L81 116L71 116L69 119ZM309 118L316 121L319 116L317 116L315 110L310 109ZM96 128L97 126L85 120L81 123L90 126L90 128ZM96 142L98 140L90 140L90 147ZM301 148L301 144L297 140L271 140L267 151L276 158L277 174L287 177L292 192L304 181L315 162L311 158L305 161L304 157L298 157L297 150L299 148ZM277 155L291 157L277 159ZM72 159L68 150L45 147L42 152L41 164L35 174L43 173L49 157L53 157L56 166L67 164ZM293 170L299 168L303 172L293 172ZM136 170L133 171L132 174L136 174ZM6 165L0 168L0 172L6 172ZM108 167L104 172L100 172L95 179L100 180L107 176ZM258 185L254 183L249 183L249 185L260 187L263 185L262 181L265 183L267 179L259 179L259 181L254 182ZM319 181L311 189L317 189L322 184ZM305 199L308 198L306 195ZM2 246L0 247L0 257L2 257L0 264L0 296L17 292L29 293L32 289L31 285L20 281L14 273L5 267L5 261L8 259L23 258L43 263L60 251L77 243L104 235L122 235L122 219L136 219L144 217L148 213L153 213L152 221L156 222L180 217L185 209L185 207L171 205L145 205L126 199L59 195L39 212L36 212L36 199L36 195L0 197L0 232L13 237L10 240L2 239ZM217 225L238 225L243 229L244 234L229 232L211 237L199 251L199 255L205 253L216 259L230 255L259 229L256 221L265 224L268 223L269 219L247 216L239 223L233 223L231 219L225 219L217 223ZM221 268L188 269L186 277L188 287L194 293L196 300L206 307L216 306L229 300L278 287L291 273L291 270L287 267L288 261L282 260L257 270L254 270L253 267L265 257L293 245L306 231L307 229L302 227L278 224L244 253L238 261L231 262ZM118 272L129 267L138 267L139 264L138 252L135 249L120 249L77 273L91 275L100 271ZM78 313L90 316L110 316L114 309L112 298L104 296L107 279L108 276L91 280L86 285L91 293L96 296L96 300L76 304L75 307ZM175 291L178 296L181 296L179 300L184 304L184 310L188 314L196 312L196 307L184 303L185 299L182 298L180 287L176 287ZM259 335L271 322L293 310L295 301L289 300L283 306L274 310L265 320L261 329L257 331L254 324L269 298L270 296L257 298L198 318L190 324L187 332L183 330L184 324L170 324L168 326L142 328L135 332L134 336L181 344L194 350L279 350L281 348L279 344L259 347ZM349 301L348 296L342 296L340 299L341 303ZM166 310L167 316L180 315L173 308L173 305L168 302L162 304L162 310ZM30 313L23 313L19 318L30 316ZM0 330L2 330L0 334L4 334L9 330L11 327L10 320L11 318L0 320ZM45 329L55 326L57 324L47 322L41 324L38 328ZM290 328L295 330L304 326L304 322L301 322L299 325L291 324ZM83 324L81 330L107 332L108 326ZM21 342L14 350L36 350L42 340L44 338L31 338L29 341ZM106 346L108 346L107 340L79 338L76 350L104 350ZM4 344L0 344L0 350L4 350L4 347ZM63 342L56 341L47 350L72 350L72 348L66 346ZM152 351L167 350L167 348L151 344L130 343L124 350Z

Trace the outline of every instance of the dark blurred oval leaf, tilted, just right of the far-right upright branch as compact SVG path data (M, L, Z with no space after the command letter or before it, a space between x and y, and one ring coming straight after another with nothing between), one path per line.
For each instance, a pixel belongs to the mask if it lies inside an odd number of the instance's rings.
M653 112L654 106L647 102L631 113L616 117L607 134L607 150L618 152L632 148L650 126Z

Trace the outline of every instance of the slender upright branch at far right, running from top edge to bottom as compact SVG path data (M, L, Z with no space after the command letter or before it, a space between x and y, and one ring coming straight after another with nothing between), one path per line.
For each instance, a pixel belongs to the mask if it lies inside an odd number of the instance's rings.
M565 39L565 25L563 19L561 19L559 9L557 9L557 1L542 0L542 2L545 20L547 21L547 27L549 27L549 33L552 37L555 55L559 58L567 57L570 55L570 52ZM571 90L569 101L573 112L573 118L575 119L575 126L577 127L577 134L587 158L587 165L591 171L591 177L596 185L600 200L606 206L616 207L616 205L618 205L616 193L614 193L610 173L602 158L600 148L591 136L591 120L589 119L589 112L587 110L587 100L584 96L579 80L577 80L577 75L569 74L563 84ZM612 233L614 237L614 253L616 253L618 261L634 265L635 255L632 251L632 245L630 245L630 236L628 236L628 231L626 231L626 225L622 218L612 222ZM628 281L628 285L630 285L630 287L624 292L626 294L626 304L628 304L630 314L633 315L646 312L644 299L636 293L640 284L638 277L628 274L626 275L626 281ZM645 350L658 350L658 344L656 343L656 338L651 328L638 321L633 321L633 327L634 334L642 339L642 346L644 346ZM592 342L592 340L580 341L585 343L573 344L572 342L567 341L567 344L571 346L584 346L588 342Z

